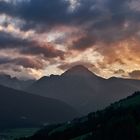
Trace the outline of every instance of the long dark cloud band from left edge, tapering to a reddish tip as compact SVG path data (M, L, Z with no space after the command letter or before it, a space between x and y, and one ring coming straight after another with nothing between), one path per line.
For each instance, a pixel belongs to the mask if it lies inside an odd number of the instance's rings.
M43 55L46 58L60 57L63 59L64 57L64 52L55 49L53 45L44 45L34 40L14 37L6 32L0 32L0 49L16 49L21 54Z

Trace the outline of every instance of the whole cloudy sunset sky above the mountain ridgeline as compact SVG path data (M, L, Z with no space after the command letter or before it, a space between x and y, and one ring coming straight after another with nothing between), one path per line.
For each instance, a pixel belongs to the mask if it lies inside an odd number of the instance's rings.
M0 74L38 79L75 65L140 79L140 0L0 0Z

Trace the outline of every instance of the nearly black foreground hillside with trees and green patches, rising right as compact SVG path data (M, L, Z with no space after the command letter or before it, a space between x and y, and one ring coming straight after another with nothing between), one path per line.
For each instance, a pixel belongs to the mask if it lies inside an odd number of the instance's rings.
M47 126L22 140L139 140L140 92L69 123Z

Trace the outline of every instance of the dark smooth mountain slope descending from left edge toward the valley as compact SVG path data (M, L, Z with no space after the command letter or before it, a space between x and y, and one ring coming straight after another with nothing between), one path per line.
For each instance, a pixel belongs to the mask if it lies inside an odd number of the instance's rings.
M42 126L77 117L66 103L0 86L0 129Z

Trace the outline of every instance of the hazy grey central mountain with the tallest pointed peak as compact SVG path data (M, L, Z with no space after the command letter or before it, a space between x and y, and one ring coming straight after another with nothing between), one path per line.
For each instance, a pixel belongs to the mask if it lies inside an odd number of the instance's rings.
M139 80L104 79L81 65L60 76L42 77L26 89L33 94L62 100L82 114L103 109L138 90Z

